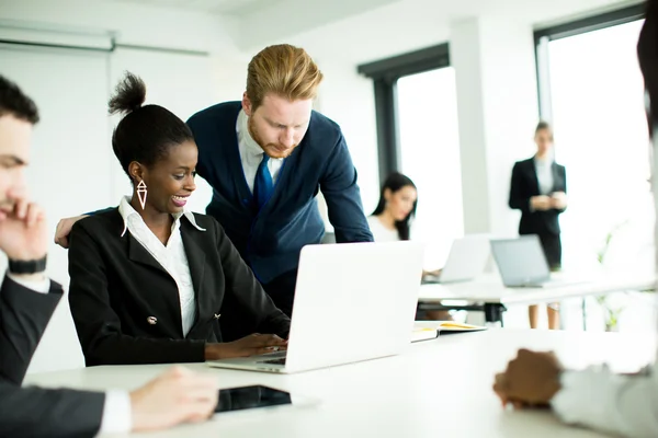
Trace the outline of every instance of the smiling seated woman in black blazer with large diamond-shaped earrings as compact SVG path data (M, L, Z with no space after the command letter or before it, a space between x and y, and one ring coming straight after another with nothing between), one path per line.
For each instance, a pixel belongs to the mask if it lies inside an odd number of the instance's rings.
M132 198L78 221L71 233L69 302L87 365L285 348L290 319L217 221L184 210L195 189L190 128L161 106L141 106L145 97L144 82L128 73L110 101L111 113L126 114L112 146L133 182Z

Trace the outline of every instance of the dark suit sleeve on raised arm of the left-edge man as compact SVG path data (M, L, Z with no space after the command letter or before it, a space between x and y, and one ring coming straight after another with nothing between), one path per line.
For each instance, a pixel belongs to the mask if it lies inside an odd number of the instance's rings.
M50 283L50 293L39 293L4 278L0 288L0 380L21 384L61 292L56 283Z

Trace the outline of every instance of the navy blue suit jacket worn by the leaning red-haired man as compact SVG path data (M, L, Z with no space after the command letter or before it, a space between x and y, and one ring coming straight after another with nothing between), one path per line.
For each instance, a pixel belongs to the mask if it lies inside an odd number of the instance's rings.
M372 242L345 139L334 122L317 112L285 159L272 197L258 210L238 148L240 110L240 102L220 103L196 113L188 125L198 147L196 170L214 189L206 212L219 221L257 277L266 284L296 269L302 247L320 243L325 224L315 199L319 189L337 242Z

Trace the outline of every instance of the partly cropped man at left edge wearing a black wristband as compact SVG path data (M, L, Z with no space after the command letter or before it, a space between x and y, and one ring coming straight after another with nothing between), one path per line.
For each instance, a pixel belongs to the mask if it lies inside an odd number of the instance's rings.
M0 251L9 272L0 288L0 436L92 437L156 430L208 418L217 404L215 379L173 368L132 393L21 388L59 299L48 280L46 220L25 198L34 103L0 77Z

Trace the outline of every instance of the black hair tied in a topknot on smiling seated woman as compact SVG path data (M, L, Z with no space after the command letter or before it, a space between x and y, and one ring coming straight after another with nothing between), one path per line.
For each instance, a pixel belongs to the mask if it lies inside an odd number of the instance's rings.
M194 139L183 120L162 106L141 106L145 100L144 81L126 72L109 104L110 114L125 115L114 129L112 148L131 180L128 166L133 161L151 166L167 157L172 146Z

